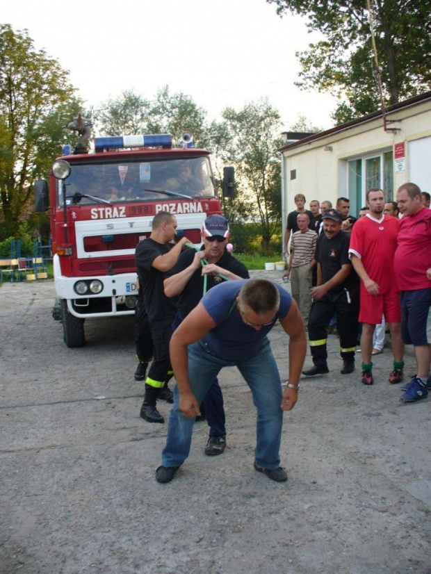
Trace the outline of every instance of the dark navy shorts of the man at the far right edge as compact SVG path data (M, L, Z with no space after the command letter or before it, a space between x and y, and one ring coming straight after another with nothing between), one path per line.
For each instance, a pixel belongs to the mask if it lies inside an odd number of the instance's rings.
M401 291L401 335L406 345L431 343L431 288Z

